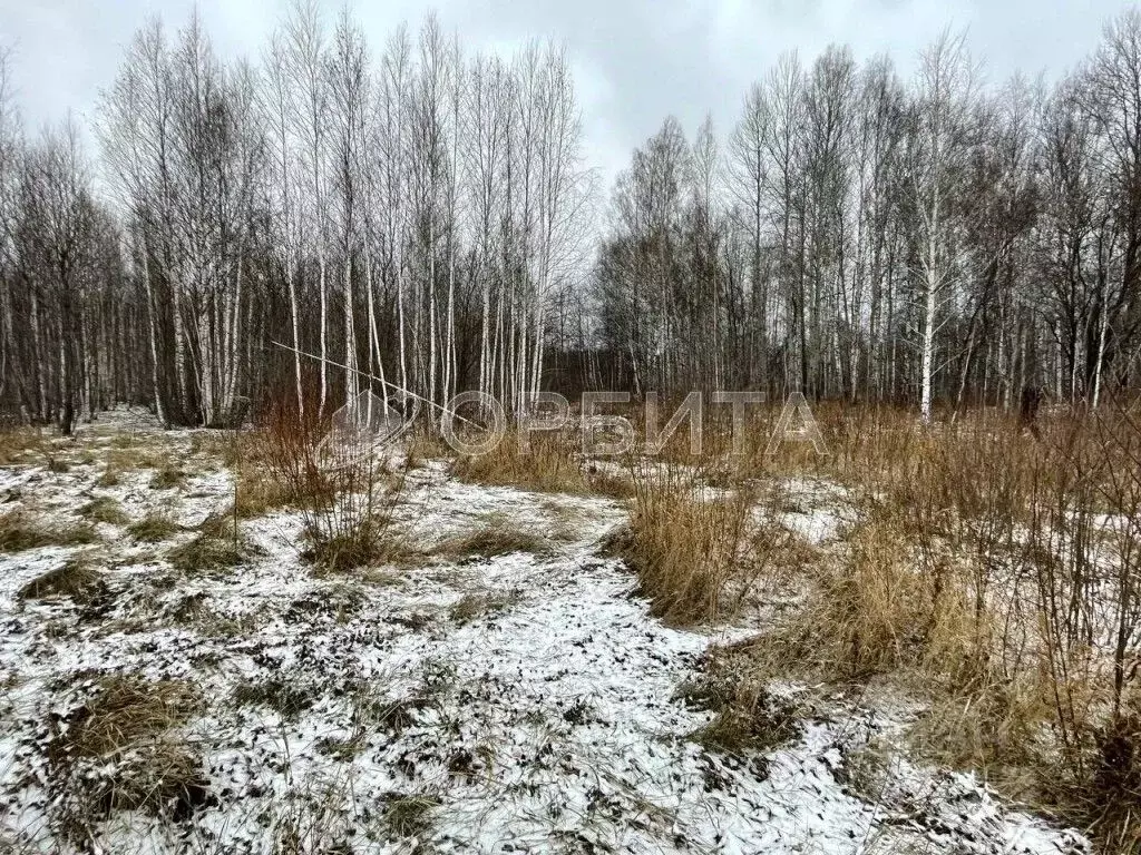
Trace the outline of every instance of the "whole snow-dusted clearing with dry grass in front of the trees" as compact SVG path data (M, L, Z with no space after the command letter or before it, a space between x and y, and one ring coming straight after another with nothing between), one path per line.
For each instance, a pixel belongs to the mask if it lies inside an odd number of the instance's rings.
M1132 702L1114 638L1135 632L1136 567L1114 568L1141 518L1114 513L1110 469L1061 483L1000 417L932 437L890 413L825 415L827 458L767 459L778 415L747 454L726 435L696 461L685 431L659 458L583 461L568 429L531 454L414 435L308 469L319 439L288 420L162 431L131 409L8 434L6 850L1083 853L1075 826L1135 833L1135 766L1106 747L1133 739L1107 727Z

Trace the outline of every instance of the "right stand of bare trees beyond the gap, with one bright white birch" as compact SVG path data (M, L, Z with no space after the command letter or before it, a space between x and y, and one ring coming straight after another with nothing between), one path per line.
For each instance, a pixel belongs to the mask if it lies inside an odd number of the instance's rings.
M1052 89L980 85L961 38L905 83L830 48L727 139L673 119L614 190L607 382L1095 405L1138 382L1141 15Z

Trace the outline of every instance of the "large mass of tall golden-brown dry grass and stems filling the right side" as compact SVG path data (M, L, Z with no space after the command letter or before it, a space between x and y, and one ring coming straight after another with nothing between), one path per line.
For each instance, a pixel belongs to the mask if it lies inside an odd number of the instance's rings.
M1106 852L1141 850L1139 414L1063 415L1039 438L997 413L926 430L890 408L817 417L830 458L787 447L723 479L823 475L858 497L859 522L752 643L756 667L917 693L930 705L911 734L922 756L1060 812ZM659 565L689 563L666 560L686 555L667 531L649 543Z

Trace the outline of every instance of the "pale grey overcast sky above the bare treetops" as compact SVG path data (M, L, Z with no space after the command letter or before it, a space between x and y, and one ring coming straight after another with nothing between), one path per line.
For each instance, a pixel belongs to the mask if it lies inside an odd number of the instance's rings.
M341 7L330 0L329 17ZM565 42L585 127L585 155L609 181L667 114L691 135L706 112L719 131L748 84L785 50L811 59L830 42L858 59L888 52L909 74L944 26L966 28L987 76L1054 78L1098 43L1122 0L359 0L374 50L402 21L438 10L468 51L511 52L531 36ZM16 48L18 101L33 129L71 109L83 123L111 84L124 44L149 16L180 25L185 0L0 0L0 43ZM200 0L224 56L256 58L288 0Z

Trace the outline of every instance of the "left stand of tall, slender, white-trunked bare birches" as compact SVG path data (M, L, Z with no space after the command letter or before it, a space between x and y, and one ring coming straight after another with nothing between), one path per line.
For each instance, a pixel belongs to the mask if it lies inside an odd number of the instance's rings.
M516 407L588 269L551 46L464 57L429 17L378 57L310 3L254 66L221 63L196 17L152 23L99 105L102 197L73 131L24 141L2 103L0 399L26 420L127 399L217 424L269 394L327 412L364 375Z

